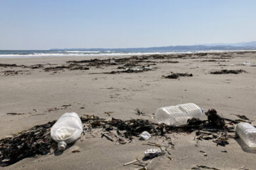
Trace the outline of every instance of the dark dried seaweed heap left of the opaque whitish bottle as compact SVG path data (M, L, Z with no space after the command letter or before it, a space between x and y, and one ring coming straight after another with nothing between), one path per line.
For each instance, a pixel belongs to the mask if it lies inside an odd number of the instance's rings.
M24 158L37 154L45 155L54 144L50 129L56 121L35 126L27 131L17 133L13 137L0 140L0 167L16 163Z

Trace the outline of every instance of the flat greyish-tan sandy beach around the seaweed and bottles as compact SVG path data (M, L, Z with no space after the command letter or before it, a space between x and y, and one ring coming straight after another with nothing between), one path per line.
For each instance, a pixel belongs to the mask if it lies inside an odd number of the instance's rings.
M250 65L242 65L245 61ZM65 112L107 120L139 118L154 122L158 108L181 103L196 103L205 111L215 109L220 116L232 120L239 119L234 114L256 120L256 52L15 58L0 59L0 63L1 139L58 120ZM124 67L144 69L127 73ZM242 69L245 73L211 74L223 69ZM171 72L193 76L162 77ZM136 114L136 109L144 115ZM207 116L203 114L200 119L206 120ZM100 133L85 133L62 154L52 152L25 158L1 169L140 169L138 165L123 164L142 159L146 149L154 148L138 138L119 144ZM162 137L148 141L166 143ZM192 169L195 165L217 169L256 167L256 154L244 150L239 139L229 139L226 146L217 146L212 140L196 140L194 131L171 133L171 142L174 146L170 154L145 161L147 169ZM75 149L80 152L73 153Z

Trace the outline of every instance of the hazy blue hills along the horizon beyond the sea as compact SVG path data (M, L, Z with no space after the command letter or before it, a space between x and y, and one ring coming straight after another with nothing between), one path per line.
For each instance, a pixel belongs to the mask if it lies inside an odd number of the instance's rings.
M160 46L149 48L53 48L51 50L115 51L115 52L182 52L198 50L256 50L256 41L236 44L200 44L190 46Z

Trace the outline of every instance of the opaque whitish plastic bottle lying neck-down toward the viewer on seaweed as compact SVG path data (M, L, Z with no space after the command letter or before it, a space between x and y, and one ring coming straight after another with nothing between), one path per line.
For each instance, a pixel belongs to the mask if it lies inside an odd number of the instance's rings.
M51 128L51 137L58 143L58 150L64 150L68 143L79 139L82 131L79 116L75 112L66 112Z

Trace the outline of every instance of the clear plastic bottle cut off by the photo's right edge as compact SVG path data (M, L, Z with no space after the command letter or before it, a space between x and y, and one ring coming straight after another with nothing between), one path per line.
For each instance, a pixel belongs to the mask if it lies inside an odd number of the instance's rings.
M248 123L239 123L236 125L236 134L249 147L256 147L256 128Z

